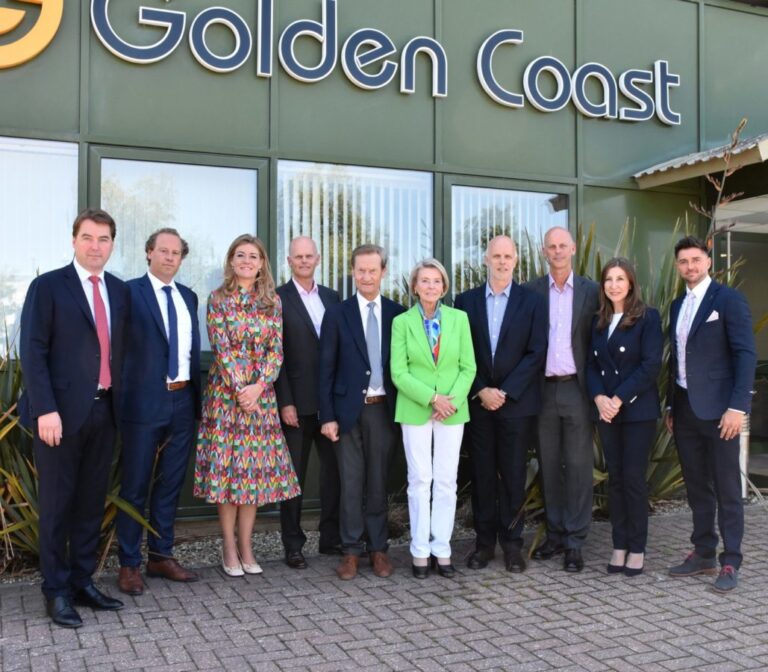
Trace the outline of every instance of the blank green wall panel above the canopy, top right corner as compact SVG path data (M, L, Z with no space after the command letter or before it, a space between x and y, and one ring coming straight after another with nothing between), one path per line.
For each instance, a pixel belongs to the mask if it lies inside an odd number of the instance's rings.
M727 142L742 117L742 137L768 131L768 16L707 7L704 45L706 146Z

